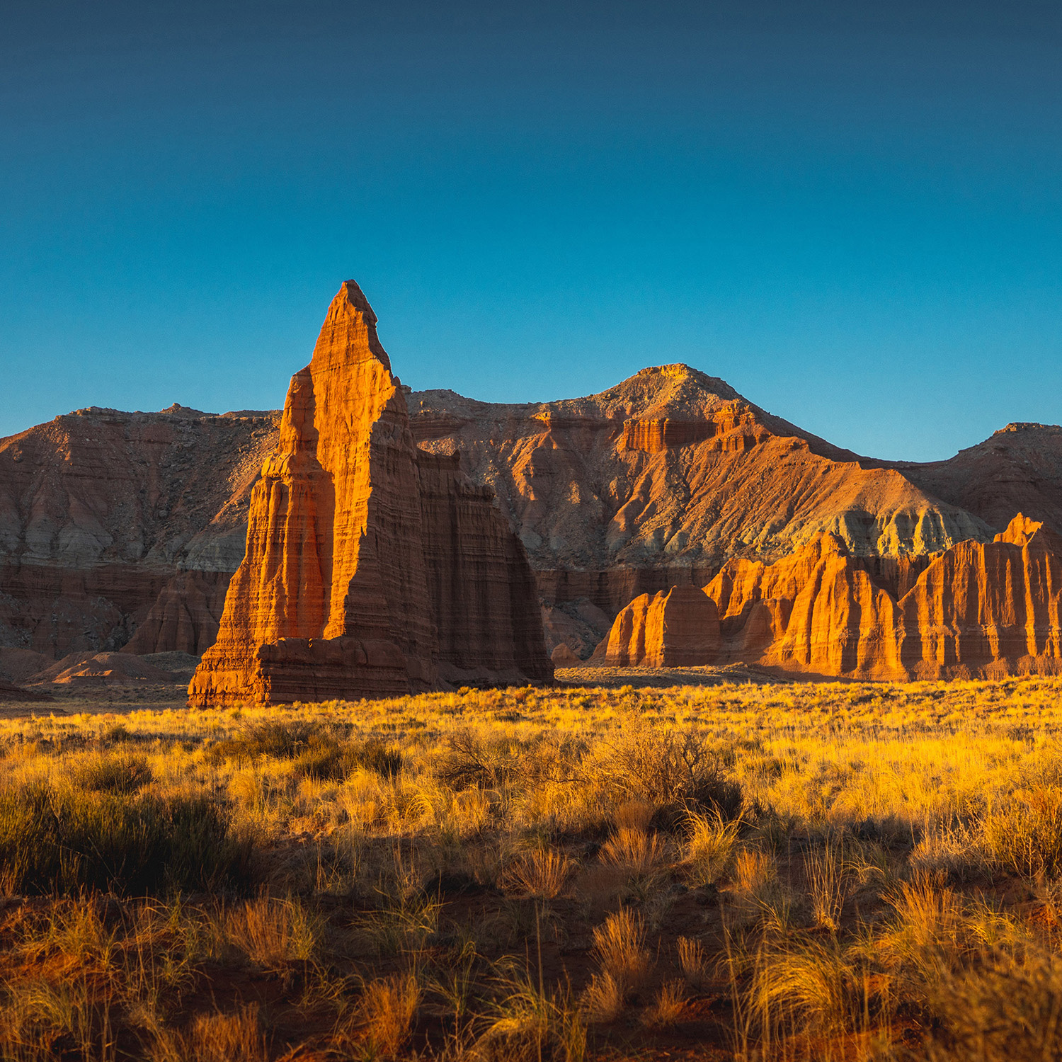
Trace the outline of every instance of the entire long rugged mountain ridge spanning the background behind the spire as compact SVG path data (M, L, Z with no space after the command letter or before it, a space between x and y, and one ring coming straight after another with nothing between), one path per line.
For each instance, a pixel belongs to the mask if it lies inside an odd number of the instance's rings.
M344 341L329 340L336 349ZM1008 425L947 461L886 462L685 365L541 404L398 390L413 443L435 457L460 452L467 490L490 487L523 541L550 651L564 641L582 658L632 599L703 586L732 560L771 565L824 533L898 601L931 556L990 542L1018 509L1062 532L1056 426ZM0 646L52 658L201 653L243 559L251 492L279 419L89 408L0 440ZM436 475L416 445L404 460L418 482ZM430 520L423 498L419 508ZM585 602L605 615L603 629L568 607ZM436 673L464 667L447 661L446 640Z

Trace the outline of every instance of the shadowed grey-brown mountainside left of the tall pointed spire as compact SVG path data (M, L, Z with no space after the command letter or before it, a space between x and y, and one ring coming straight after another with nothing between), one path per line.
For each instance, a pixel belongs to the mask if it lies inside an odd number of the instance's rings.
M227 580L276 419L90 408L0 440L0 646L117 650L178 572Z

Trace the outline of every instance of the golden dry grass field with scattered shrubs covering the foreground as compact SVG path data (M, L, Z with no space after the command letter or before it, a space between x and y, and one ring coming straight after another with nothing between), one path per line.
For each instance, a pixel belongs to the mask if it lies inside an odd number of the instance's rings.
M1059 1058L1060 726L1038 679L6 718L0 1059Z

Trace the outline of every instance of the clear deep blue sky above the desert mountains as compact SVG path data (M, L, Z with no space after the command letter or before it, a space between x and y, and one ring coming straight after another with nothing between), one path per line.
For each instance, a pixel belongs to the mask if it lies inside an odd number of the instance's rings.
M1062 422L1062 4L3 0L0 434L685 361L931 460Z

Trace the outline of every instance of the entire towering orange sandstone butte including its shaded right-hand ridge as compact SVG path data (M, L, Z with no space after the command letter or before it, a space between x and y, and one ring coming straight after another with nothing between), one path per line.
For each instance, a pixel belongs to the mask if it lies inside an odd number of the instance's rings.
M552 678L523 547L456 455L417 450L406 390L347 280L291 379L190 704Z

